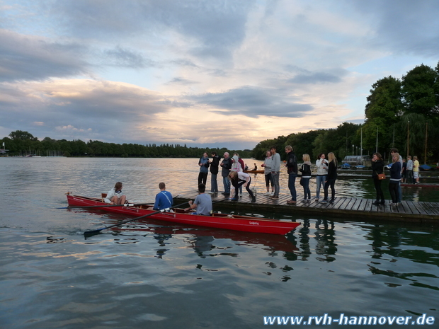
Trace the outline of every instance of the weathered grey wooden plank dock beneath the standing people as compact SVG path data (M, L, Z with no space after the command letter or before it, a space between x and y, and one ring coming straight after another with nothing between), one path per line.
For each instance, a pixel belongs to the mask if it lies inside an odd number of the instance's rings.
M197 194L198 192L195 190L182 192L181 197L174 199L174 203L179 204L187 200L193 200ZM300 200L299 195L297 199ZM212 195L212 201L220 200L224 200L221 193ZM311 202L297 202L295 205L287 204L288 200L290 200L290 195L280 195L278 200L264 195L256 195L256 203L251 203L249 195L244 193L243 197L239 197L238 202L224 200L224 202L221 202L221 207L239 208L239 210L250 210L252 212L261 210L281 214L318 215L319 217L323 215L338 217L339 219L374 219L439 224L439 202L402 201L401 204L395 207L390 206L391 201L387 200L383 207L372 204L375 200L355 197L336 197L333 203L321 203L312 200Z

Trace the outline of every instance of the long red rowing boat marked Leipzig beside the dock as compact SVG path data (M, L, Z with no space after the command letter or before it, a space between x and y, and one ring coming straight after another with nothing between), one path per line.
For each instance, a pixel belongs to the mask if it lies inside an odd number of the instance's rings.
M111 207L110 204L106 204L101 198L97 197L81 197L79 195L67 194L67 202L70 207L103 206L96 209L116 214L130 215L133 217L141 217L156 212L156 210L152 209L152 206L147 205ZM108 207L106 207L106 205L108 205ZM292 221L261 219L258 217L229 214L214 213L212 216L193 215L188 214L184 209L179 208L174 208L172 212L153 214L150 218L159 219L161 221L171 221L179 224L215 227L217 229L281 235L285 235L300 225L300 223Z

